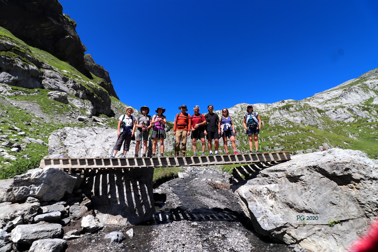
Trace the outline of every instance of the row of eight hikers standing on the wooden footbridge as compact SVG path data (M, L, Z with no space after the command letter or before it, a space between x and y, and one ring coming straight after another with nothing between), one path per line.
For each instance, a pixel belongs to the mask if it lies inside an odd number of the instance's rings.
M185 156L187 137L191 135L192 147L194 156L197 156L197 139L199 138L202 145L201 156L205 156L205 136L208 140L208 148L210 156L219 155L219 138L223 138L224 148L228 155L227 141L231 140L232 150L234 154L239 154L236 151L235 143L235 126L229 115L228 109L222 109L222 116L219 117L213 112L214 107L210 104L208 106L208 113L206 115L200 114L200 107L194 106L194 114L191 116L187 113L186 105L178 107L181 110L175 117L173 134L175 136L175 157ZM130 148L131 140L136 140L135 157L139 156L139 148L143 140L143 153L141 157L146 157L147 143L149 138L149 131L152 128L151 138L152 144L152 157L156 157L156 146L160 140L160 157L164 156L164 139L166 138L165 126L166 117L163 115L165 109L158 107L156 114L152 117L149 115L150 109L147 106L140 108L142 115L137 118L133 117L134 110L132 107L125 109L125 114L119 117L117 129L117 142L113 148L113 153L110 158L114 158L117 152L121 149L124 143L122 157L126 157L127 151ZM256 152L258 149L258 134L261 128L261 119L259 113L253 111L253 104L248 104L246 113L244 114L243 126L248 135L249 153L253 153L253 142L255 144ZM135 129L137 129L135 133ZM192 132L192 134L191 134ZM134 135L135 134L135 135ZM212 152L212 140L214 139L215 153ZM181 143L181 150L180 150Z

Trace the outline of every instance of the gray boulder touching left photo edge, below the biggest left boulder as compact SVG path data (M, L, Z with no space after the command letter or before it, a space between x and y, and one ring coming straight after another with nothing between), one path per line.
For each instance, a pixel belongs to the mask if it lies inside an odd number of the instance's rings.
M23 221L31 223L33 217L37 215L39 203L23 203L11 204L9 202L0 203L0 226L13 221L19 216L23 217Z

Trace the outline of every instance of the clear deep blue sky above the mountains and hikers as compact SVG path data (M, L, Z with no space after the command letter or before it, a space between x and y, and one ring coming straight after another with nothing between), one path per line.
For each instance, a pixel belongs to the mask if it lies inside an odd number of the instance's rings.
M378 67L378 1L60 0L120 100L302 100ZM152 112L150 112L152 114Z

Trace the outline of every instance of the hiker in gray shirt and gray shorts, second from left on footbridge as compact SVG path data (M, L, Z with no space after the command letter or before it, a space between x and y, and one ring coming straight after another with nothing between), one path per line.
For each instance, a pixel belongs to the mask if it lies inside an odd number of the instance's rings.
M146 157L147 152L147 141L149 137L149 131L152 127L152 117L149 115L150 108L147 106L141 107L142 115L138 115L136 118L136 145L135 145L135 157L138 157L139 152L139 145L141 144L143 138L143 155L142 157Z

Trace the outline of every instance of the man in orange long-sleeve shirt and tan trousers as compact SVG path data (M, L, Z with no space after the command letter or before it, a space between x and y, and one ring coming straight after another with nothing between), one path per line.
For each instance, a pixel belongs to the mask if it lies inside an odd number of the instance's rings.
M176 138L176 145L175 145L175 157L180 154L180 142L181 142L181 155L185 156L186 151L186 140L187 137L190 135L192 120L191 116L186 113L188 109L186 105L182 105L178 107L181 109L181 113L178 113L175 118L175 125L173 126L173 134Z

